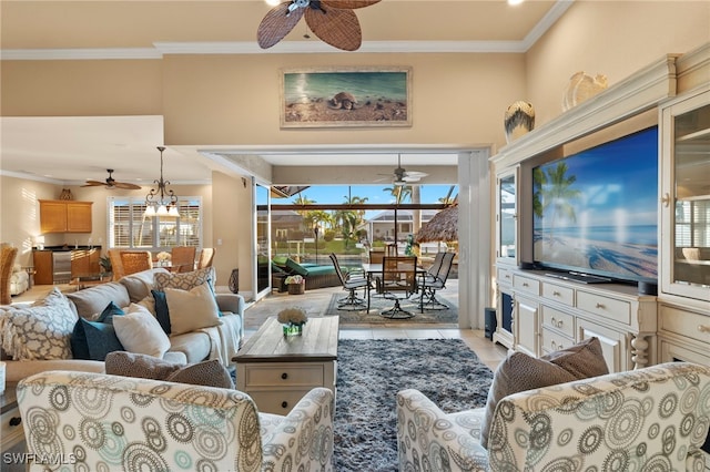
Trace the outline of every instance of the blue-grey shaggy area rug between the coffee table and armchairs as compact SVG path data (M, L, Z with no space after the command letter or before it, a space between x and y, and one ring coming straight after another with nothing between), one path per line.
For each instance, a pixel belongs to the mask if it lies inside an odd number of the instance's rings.
M493 372L460 339L342 339L335 470L397 470L396 394L414 388L444 412L485 407Z

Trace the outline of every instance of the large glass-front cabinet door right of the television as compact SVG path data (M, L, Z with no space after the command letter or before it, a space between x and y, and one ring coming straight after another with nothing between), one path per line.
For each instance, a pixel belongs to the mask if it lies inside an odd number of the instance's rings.
M661 120L661 290L710 300L710 91Z

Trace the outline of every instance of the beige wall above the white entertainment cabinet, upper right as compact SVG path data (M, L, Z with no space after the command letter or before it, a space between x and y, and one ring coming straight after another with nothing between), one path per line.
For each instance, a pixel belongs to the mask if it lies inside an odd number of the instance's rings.
M575 72L605 74L611 86L666 54L708 41L708 1L577 0L526 54L536 126L562 113L562 93Z

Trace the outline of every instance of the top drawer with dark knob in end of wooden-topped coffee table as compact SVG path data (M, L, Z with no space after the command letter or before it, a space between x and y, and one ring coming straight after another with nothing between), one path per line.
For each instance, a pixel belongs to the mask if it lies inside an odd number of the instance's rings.
M321 387L323 366L297 363L253 363L246 366L246 389L253 387Z

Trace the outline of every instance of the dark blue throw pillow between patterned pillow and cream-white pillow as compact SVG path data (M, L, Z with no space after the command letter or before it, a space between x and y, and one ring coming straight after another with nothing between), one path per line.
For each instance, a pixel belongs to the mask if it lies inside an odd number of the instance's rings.
M111 301L95 321L79 318L71 335L71 351L74 359L104 360L106 353L123 350L113 330L113 317L123 310Z

